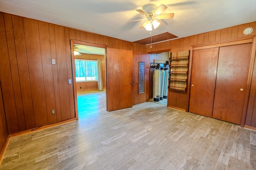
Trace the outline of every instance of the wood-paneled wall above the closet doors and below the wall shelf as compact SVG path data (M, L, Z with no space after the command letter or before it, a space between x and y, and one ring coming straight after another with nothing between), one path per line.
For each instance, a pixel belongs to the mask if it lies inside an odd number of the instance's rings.
M207 43L214 43L218 41L231 40L241 37L247 37L256 35L256 31L253 31L250 35L245 35L243 33L244 29L247 27L252 27L256 30L256 21L251 23L245 23L242 25L236 25L233 27L228 27L224 29L218 29L216 31L210 31L206 33L201 33L198 35L193 35L190 37L184 37L180 39L175 39L172 41L166 41L158 44L153 44L152 48L147 46L147 51L160 51L165 49L171 49L171 52L186 51L190 50L192 45L200 45ZM186 109L186 95L187 92L178 92L174 90L168 91L168 106L177 107L180 109Z

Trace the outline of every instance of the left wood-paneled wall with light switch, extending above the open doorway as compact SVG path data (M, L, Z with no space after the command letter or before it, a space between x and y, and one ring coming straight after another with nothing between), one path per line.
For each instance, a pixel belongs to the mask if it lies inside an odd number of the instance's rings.
M0 81L9 134L75 117L74 88L68 84L70 39L146 52L137 43L3 12L0 37Z

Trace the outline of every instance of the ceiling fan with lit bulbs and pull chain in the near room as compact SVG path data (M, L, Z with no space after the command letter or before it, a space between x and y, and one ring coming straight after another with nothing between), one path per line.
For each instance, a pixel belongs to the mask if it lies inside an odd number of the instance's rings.
M161 4L158 7L154 4L148 4L143 8L143 10L136 10L140 12L140 14L146 16L146 18L134 21L147 20L141 25L140 28L144 27L147 31L152 31L152 26L154 27L154 29L156 29L158 26L161 25L160 21L158 20L174 17L174 13L161 14L166 9L167 6L164 4Z

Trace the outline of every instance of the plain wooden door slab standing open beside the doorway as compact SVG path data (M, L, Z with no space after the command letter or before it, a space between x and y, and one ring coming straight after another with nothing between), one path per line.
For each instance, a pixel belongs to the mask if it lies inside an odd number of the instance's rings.
M132 107L133 51L111 48L106 51L106 110Z

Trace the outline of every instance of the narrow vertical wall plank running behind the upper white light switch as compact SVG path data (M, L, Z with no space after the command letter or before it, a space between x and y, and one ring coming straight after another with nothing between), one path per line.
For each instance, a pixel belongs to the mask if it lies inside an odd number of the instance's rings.
M59 88L59 80L58 80L58 60L56 57L56 41L55 41L54 25L51 23L49 23L49 37L50 37L51 57L56 61L56 64L52 65L52 76L53 76L53 84L54 84L56 117L57 117L57 122L60 122L62 121L62 116L61 116L62 113L61 113L61 106L60 106L60 88Z

